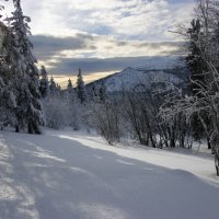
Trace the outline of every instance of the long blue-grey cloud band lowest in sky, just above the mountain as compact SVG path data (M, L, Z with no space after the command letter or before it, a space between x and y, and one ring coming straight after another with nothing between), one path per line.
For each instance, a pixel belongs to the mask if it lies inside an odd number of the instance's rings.
M81 68L84 74L94 72L107 72L123 70L127 67L147 67L150 69L166 68L174 62L178 57L115 57L106 59L83 58L83 59L60 59L60 62L55 64L49 70L53 74L69 74L76 76L78 69Z

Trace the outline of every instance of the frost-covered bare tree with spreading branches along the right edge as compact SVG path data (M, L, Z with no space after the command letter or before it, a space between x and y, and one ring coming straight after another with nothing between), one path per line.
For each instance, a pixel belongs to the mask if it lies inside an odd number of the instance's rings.
M183 114L187 123L197 115L207 140L214 146L217 165L219 157L219 3L214 0L197 0L195 11L196 24L192 22L193 30L180 32L189 42L188 67L192 70L192 94L177 93L174 99L166 97L171 105L165 103L160 115L169 122L176 115ZM199 65L194 66L194 64Z

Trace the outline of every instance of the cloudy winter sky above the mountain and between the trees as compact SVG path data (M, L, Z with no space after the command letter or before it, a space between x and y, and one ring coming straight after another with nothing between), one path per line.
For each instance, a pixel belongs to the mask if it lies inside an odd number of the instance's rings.
M60 83L87 82L173 57L183 39L171 31L189 23L193 0L21 0L31 16L31 41L38 65ZM10 16L12 3L5 2ZM166 58L169 60L169 58Z

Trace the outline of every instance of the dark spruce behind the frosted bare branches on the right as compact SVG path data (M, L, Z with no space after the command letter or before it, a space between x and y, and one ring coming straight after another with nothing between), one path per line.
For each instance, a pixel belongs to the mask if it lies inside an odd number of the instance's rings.
M209 83L208 67L206 65L206 58L203 56L204 50L206 50L204 27L199 19L193 20L191 22L191 28L187 30L189 46L189 54L186 57L186 65L191 70L191 84L189 89L192 95L195 95L198 99L204 97L199 92L204 84ZM205 87L205 85L204 85ZM193 114L192 117L192 127L193 127L193 137L196 140L200 140L204 136L207 138L208 148L211 148L210 145L210 124L211 120L208 114L205 111ZM205 128L204 128L205 127Z

